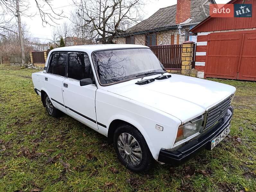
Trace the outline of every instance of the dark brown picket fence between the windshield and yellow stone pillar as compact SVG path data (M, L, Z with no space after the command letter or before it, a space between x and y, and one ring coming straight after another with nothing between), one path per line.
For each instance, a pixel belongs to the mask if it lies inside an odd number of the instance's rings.
M182 44L150 46L167 69L181 69Z

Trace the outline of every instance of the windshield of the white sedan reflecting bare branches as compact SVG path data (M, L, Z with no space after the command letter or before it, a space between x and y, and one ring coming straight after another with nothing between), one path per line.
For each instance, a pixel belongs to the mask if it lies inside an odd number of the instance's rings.
M93 54L102 85L134 78L149 72L164 72L154 53L147 48L98 51Z

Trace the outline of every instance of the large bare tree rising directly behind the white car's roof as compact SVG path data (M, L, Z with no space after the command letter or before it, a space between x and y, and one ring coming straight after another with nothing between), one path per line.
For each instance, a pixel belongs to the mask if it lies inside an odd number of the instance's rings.
M102 38L103 44L113 43L113 39L141 21L144 5L142 0L80 0L76 4L76 16L94 37Z

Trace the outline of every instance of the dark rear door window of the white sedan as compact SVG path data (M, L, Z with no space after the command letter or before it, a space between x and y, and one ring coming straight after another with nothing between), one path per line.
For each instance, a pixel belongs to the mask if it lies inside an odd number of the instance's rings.
M48 73L65 76L66 53L54 53L49 63Z

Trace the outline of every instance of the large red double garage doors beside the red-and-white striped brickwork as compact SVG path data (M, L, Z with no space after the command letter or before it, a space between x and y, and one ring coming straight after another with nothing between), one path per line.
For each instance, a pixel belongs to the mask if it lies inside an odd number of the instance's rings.
M256 80L256 31L211 33L205 77Z

